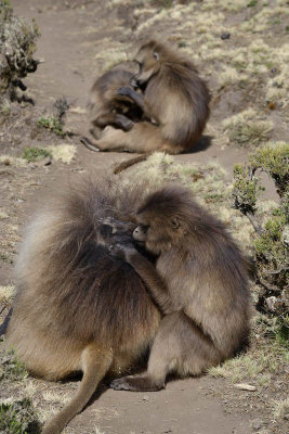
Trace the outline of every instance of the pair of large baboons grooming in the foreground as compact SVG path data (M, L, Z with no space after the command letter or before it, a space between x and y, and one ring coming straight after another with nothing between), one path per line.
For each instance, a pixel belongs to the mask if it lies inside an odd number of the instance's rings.
M168 373L199 374L232 356L248 328L246 265L224 226L192 193L109 180L87 183L38 213L16 266L6 342L35 374L82 371L79 390L44 426L58 433L98 382L156 391Z

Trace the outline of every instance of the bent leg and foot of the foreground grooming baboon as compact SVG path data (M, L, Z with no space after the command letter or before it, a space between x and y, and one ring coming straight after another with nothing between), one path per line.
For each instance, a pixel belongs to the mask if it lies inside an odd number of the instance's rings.
M149 355L147 371L142 375L115 380L116 391L154 392L165 387L166 376L199 375L220 361L219 352L183 312L167 315L160 323Z

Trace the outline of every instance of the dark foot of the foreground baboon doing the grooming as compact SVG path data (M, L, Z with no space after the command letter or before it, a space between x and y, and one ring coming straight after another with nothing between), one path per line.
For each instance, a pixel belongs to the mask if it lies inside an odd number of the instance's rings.
M156 392L165 388L165 383L156 382L149 376L123 376L114 380L110 387L115 391Z

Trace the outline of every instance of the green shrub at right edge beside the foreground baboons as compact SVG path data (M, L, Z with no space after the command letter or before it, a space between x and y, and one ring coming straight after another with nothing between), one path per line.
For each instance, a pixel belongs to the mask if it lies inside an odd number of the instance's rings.
M235 207L245 214L255 229L253 260L260 284L257 307L279 317L281 328L288 328L288 246L289 246L289 146L275 143L252 153L249 163L234 169L233 196ZM266 171L274 180L280 197L266 221L257 217L259 180L257 170ZM288 329L287 329L288 330Z

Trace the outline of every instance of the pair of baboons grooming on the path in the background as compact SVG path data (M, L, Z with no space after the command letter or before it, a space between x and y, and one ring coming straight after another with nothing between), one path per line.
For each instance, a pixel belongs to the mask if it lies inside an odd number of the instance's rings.
M116 69L94 84L89 110L97 140L83 143L96 151L189 150L209 117L209 92L196 67L156 41L144 43L134 60L136 75Z

